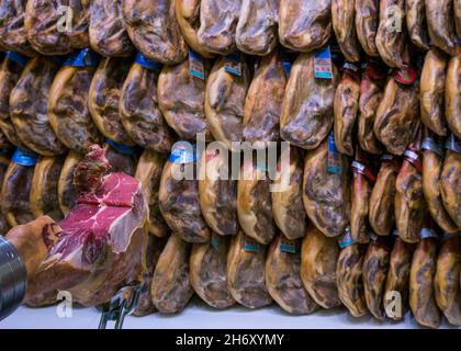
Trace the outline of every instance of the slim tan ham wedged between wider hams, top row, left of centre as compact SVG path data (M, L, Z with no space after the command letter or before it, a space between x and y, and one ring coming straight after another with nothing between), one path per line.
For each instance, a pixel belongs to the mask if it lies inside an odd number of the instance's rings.
M213 54L199 43L198 37L201 2L201 0L175 0L176 19L188 45L201 56L212 58Z

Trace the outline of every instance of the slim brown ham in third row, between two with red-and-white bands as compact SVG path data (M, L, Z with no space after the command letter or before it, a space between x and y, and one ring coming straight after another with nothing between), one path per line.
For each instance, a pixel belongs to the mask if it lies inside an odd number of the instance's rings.
M385 154L369 201L370 226L376 235L387 236L395 226L395 181L401 168L398 159Z

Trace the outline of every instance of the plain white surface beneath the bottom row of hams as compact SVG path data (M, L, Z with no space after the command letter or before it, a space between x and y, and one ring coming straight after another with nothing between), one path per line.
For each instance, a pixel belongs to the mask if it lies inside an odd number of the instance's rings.
M21 307L12 316L0 321L0 329L97 329L100 314L95 308L75 308L71 318L59 318L56 307ZM112 325L108 326L112 327ZM124 329L414 329L420 328L411 314L402 322L379 322L370 316L351 317L346 309L321 310L310 316L290 316L278 306L249 310L234 306L215 310L199 299L192 301L178 315L165 316L158 313L145 317L128 316ZM443 324L442 328L453 328Z

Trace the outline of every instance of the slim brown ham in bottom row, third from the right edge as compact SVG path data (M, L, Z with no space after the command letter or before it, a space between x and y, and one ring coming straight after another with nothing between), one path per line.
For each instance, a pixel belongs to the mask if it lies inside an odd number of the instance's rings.
M398 237L398 231L395 231L383 301L385 314L392 320L403 320L408 309L409 270L414 250L415 245L405 242Z

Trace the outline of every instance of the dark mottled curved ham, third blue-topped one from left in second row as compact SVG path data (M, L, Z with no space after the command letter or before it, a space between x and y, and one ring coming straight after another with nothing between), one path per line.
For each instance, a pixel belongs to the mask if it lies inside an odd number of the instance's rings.
M123 83L119 112L124 129L137 145L166 154L171 149L175 136L159 110L157 81L160 67L147 66L138 61L133 64Z

